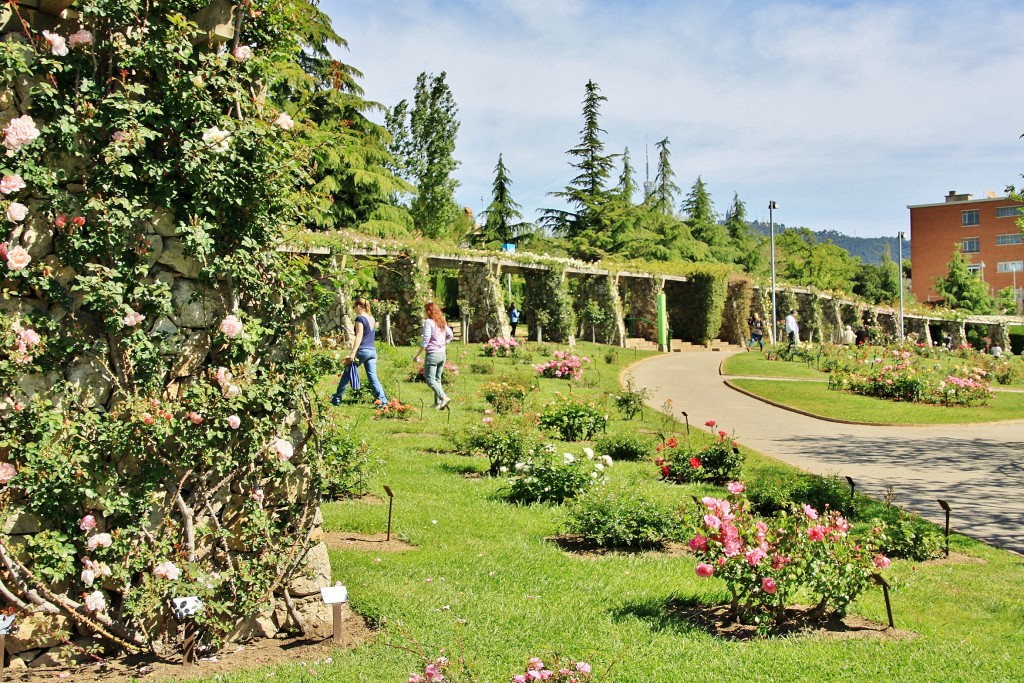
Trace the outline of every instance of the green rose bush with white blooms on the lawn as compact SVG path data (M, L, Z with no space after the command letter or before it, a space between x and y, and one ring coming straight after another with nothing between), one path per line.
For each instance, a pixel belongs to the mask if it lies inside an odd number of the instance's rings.
M562 503L595 484L604 484L604 468L611 459L598 459L590 449L586 458L570 453L554 455L554 446L546 446L525 462L514 465L509 478L508 499L512 503Z

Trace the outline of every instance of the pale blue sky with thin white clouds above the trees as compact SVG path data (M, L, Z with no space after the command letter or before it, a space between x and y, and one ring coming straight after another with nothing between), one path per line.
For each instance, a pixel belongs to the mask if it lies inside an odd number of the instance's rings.
M322 0L368 99L447 73L456 199L479 214L498 155L528 220L575 175L584 87L608 153L668 137L676 182L724 213L858 237L907 205L1022 184L1024 3L1009 0ZM382 116L374 117L383 121ZM617 163L614 175L617 175ZM682 198L680 198L682 199Z

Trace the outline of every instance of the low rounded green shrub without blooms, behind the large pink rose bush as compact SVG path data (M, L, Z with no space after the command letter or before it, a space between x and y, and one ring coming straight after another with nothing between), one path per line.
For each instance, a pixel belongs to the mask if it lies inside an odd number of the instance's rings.
M604 548L645 548L682 538L672 506L637 490L592 488L568 508L565 528Z

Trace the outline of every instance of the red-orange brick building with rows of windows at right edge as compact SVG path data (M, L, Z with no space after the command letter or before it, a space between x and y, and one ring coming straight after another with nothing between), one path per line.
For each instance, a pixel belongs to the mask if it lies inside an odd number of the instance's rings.
M936 278L944 278L956 245L971 259L994 295L1016 285L1024 294L1024 238L1018 220L1024 202L988 193L983 200L950 191L941 204L908 206L910 210L911 291L919 301L936 301Z

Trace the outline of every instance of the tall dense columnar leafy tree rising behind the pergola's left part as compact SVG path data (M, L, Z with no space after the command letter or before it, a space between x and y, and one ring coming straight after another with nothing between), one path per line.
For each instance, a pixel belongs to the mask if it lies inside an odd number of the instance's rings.
M393 138L391 153L398 160L396 171L416 187L409 206L414 225L429 238L450 233L460 219L455 201L459 181L452 175L459 168L459 109L445 78L444 72L421 73L412 108L401 100L386 121Z

